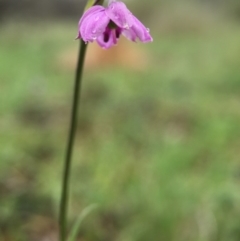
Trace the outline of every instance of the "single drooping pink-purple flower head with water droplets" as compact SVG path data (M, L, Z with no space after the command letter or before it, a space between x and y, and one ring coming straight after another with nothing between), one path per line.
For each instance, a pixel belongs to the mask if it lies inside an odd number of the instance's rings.
M96 5L89 8L78 24L77 38L86 43L97 41L102 48L116 45L122 34L131 41L152 41L147 29L120 1L109 1L108 7Z

